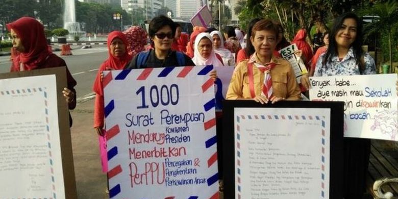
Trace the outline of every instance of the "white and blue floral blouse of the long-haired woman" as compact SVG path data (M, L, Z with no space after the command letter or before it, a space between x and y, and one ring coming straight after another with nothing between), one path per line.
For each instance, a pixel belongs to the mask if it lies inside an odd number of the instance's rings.
M322 65L325 59L325 54L322 54L318 62L316 62L314 76L351 76L360 74L359 66L356 63L353 47L349 49L349 52L340 61L338 56L334 56L331 62L327 62L326 66ZM365 69L362 74L376 74L375 60L369 55L369 53L363 54L363 61L365 62Z

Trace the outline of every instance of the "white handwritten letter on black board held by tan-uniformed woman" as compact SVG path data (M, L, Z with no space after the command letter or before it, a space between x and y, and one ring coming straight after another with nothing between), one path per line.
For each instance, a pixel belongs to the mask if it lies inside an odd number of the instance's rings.
M235 108L235 198L329 198L330 114Z

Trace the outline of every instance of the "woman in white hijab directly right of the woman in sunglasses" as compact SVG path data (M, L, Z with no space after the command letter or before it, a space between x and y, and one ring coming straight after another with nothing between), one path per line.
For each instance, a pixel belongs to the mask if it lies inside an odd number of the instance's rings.
M200 33L195 39L193 63L196 66L223 66L222 59L216 56L213 50L213 38L209 33Z

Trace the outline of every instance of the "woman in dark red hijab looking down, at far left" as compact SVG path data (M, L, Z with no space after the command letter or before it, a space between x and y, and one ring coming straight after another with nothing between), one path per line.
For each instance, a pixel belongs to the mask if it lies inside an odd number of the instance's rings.
M18 20L7 24L11 32L12 45L20 52L11 64L11 72L34 70L58 66L66 66L63 59L48 51L43 25L34 18L21 17ZM64 88L63 95L70 110L76 107L76 81L66 67L67 88ZM72 118L69 114L69 126L72 126Z

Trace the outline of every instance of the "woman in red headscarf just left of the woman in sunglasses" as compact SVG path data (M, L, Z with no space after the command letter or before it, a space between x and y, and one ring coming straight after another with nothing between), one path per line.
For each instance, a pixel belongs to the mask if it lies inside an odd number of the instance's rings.
M121 70L131 61L128 53L126 36L120 31L113 31L108 35L109 58L99 67L94 80L93 90L96 93L94 106L94 128L98 135L104 136L104 88L102 85L102 72L104 70Z

